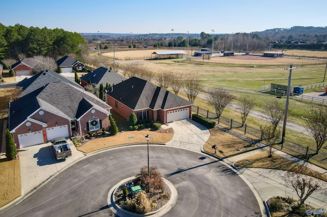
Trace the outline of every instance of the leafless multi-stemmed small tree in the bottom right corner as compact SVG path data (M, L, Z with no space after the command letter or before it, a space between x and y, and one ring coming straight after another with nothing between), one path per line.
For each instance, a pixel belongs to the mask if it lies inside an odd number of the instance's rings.
M300 200L299 205L302 205L312 193L319 191L325 186L319 179L300 173L287 172L283 179L287 186L292 187L296 191Z

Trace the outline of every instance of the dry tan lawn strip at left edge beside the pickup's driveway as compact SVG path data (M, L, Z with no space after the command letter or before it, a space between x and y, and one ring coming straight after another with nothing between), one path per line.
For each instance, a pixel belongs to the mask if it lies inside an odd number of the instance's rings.
M0 207L20 196L19 160L0 160Z

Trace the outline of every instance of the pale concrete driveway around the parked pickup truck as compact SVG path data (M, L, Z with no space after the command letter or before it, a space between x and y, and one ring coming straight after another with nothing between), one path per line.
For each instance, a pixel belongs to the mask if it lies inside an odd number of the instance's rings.
M21 195L26 195L58 171L85 156L75 148L71 140L67 141L71 146L72 156L62 160L55 158L51 143L19 149Z

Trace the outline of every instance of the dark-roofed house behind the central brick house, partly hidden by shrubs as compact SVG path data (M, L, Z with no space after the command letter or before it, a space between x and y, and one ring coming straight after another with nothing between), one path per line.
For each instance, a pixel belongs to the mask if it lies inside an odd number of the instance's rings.
M97 68L94 71L91 71L80 77L81 85L83 87L88 85L88 80L91 81L91 84L96 84L96 87L99 87L100 84L106 88L106 84L110 84L111 86L114 84L118 84L126 80L126 77L115 73L114 71L109 70L105 67Z

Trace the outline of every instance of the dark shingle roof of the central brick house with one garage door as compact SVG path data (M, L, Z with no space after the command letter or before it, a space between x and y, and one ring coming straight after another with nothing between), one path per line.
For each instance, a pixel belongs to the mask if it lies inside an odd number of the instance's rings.
M137 77L131 77L122 83L114 85L112 89L107 89L105 92L132 110L146 108L168 110L193 104L180 96Z

